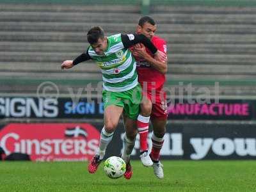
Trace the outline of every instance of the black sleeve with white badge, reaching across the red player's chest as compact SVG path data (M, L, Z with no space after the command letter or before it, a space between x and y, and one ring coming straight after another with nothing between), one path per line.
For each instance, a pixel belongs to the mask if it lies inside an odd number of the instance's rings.
M141 43L145 45L153 54L157 52L154 44L145 36L138 34L121 35L122 42L125 48L131 47L132 45Z

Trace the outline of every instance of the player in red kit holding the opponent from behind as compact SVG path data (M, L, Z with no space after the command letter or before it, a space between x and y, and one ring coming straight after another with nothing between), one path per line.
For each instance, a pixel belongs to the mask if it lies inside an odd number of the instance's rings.
M155 35L156 29L157 26L154 19L144 16L139 20L136 32L147 36L159 51L165 52L167 55L166 42ZM164 61L154 59L154 56L142 44L132 47L132 54L136 58L138 80L143 88L144 96L141 103L141 113L138 116L138 132L140 133L140 145L142 147L140 150L141 152L147 151L147 131L145 132L143 129L143 124L140 125L140 116L150 116L153 126L150 158L153 161L156 177L163 179L163 165L159 162L159 153L164 142L168 116L166 93L163 90L164 82L166 81L167 57ZM145 118L141 119L143 121Z

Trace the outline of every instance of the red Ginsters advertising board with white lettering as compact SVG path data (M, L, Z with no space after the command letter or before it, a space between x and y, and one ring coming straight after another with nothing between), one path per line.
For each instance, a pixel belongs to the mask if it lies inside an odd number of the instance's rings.
M86 161L99 138L90 124L8 124L0 131L0 146L6 155L20 152L33 161Z

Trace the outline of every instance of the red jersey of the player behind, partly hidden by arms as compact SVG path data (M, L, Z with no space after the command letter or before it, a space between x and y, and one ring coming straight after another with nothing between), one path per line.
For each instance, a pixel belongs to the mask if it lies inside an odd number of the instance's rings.
M166 42L162 38L159 36L153 36L151 42L159 51L165 52L167 54ZM147 47L146 50L148 54L154 58L154 55L147 49ZM151 67L150 63L148 63L148 61L144 60L143 58L135 59L137 63L138 81L140 82L141 86L147 83L147 91L152 89L161 90L164 86L165 75L156 70L154 67Z

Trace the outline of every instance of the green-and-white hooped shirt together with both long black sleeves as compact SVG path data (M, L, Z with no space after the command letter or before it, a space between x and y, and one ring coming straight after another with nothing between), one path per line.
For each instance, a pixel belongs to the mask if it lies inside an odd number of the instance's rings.
M103 88L110 92L125 92L138 84L136 61L128 47L142 43L155 54L156 47L144 35L111 35L108 36L108 47L103 55L96 54L92 46L86 53L78 56L73 65L83 61L94 60L102 71Z

